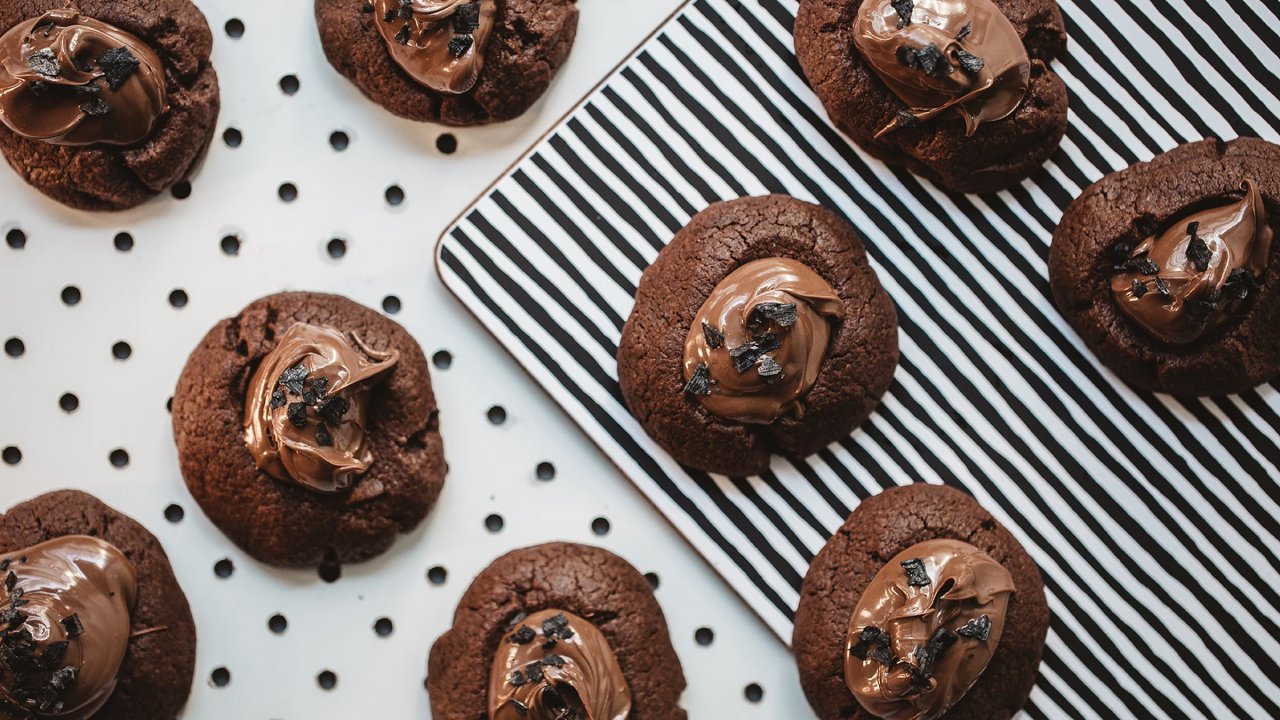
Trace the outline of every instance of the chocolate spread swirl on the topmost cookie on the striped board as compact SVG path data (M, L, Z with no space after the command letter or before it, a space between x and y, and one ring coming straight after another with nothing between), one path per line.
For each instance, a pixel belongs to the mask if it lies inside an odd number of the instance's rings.
M1030 58L991 0L867 0L854 45L908 106L876 137L952 108L972 136L1027 97Z

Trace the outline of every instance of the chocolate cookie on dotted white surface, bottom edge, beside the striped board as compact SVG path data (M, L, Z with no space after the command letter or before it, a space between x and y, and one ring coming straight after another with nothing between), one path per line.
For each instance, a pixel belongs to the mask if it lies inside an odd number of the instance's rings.
M644 577L584 544L526 547L485 568L428 664L435 720L684 720L684 689Z

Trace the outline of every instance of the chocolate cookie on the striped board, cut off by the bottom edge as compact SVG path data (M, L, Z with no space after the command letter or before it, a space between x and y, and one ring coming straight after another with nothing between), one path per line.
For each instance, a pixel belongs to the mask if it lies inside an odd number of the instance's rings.
M1027 702L1048 620L1039 570L1018 539L968 495L914 484L863 501L818 552L791 647L820 720L913 707L991 720Z

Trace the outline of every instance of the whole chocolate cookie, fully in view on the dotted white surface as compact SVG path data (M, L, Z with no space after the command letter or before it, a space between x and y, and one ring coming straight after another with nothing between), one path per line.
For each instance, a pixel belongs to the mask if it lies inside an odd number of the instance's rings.
M178 380L173 432L191 495L270 565L367 560L444 484L422 350L335 295L271 295L214 325Z

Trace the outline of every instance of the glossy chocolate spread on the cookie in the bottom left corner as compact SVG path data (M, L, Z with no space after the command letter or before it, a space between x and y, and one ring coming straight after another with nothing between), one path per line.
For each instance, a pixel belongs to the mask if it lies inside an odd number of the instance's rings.
M0 719L88 720L115 692L137 596L115 546L67 536L3 556Z

